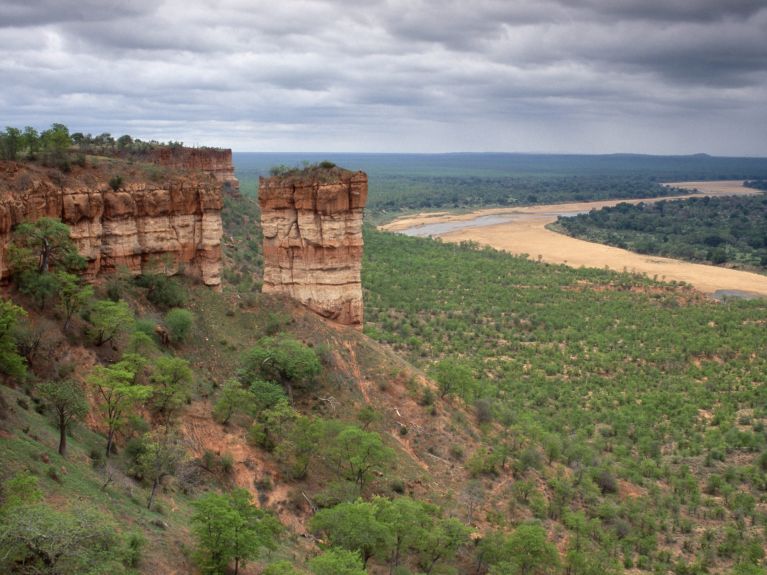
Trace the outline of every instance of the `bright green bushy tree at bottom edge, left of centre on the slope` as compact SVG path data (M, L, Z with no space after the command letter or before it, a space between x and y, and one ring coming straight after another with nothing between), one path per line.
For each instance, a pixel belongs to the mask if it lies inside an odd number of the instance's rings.
M281 526L271 514L258 509L245 489L228 494L207 493L192 503L192 532L197 539L194 553L204 574L226 573L234 561L234 574L255 559L263 547L272 547Z

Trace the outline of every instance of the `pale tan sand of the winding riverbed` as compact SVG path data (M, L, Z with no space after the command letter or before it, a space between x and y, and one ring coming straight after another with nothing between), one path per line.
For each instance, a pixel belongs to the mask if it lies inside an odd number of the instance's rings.
M691 196L726 196L749 195L760 193L742 187L742 182L678 182L668 184L679 188L697 188L700 193ZM691 196L681 196L689 198ZM544 262L567 264L571 267L610 268L615 271L644 273L665 281L683 281L705 293L717 290L738 290L767 296L767 276L731 270L716 266L687 263L659 256L646 256L627 250L578 240L546 229L546 225L556 221L557 216L546 212L588 211L621 202L653 202L671 198L650 198L637 200L611 200L603 202L580 202L572 204L553 204L547 206L529 206L520 208L497 208L478 210L471 214L454 216L417 216L395 220L382 226L390 231L447 221L471 220L481 215L514 213L527 214L529 217L513 222L484 227L457 230L441 235L444 241L460 242L471 240L482 245L492 246L514 254L528 254L533 259Z

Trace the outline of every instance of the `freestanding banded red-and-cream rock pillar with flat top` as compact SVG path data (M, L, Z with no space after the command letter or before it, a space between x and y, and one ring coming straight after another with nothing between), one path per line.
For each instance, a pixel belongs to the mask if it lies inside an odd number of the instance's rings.
M286 293L362 329L362 212L367 175L338 168L261 178L264 293Z

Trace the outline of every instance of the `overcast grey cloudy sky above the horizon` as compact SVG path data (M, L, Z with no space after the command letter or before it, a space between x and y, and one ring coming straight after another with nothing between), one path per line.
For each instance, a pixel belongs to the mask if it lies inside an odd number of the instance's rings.
M0 0L0 125L767 156L767 0Z

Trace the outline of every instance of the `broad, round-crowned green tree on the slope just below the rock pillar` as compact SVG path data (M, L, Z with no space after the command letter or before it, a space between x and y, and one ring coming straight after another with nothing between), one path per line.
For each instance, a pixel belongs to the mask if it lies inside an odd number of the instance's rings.
M287 335L262 338L245 355L240 379L249 382L267 379L285 386L293 398L293 386L311 381L320 374L322 365L317 352Z

